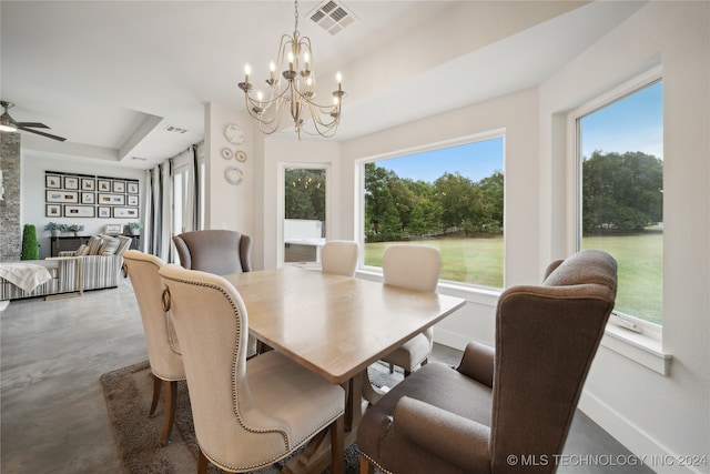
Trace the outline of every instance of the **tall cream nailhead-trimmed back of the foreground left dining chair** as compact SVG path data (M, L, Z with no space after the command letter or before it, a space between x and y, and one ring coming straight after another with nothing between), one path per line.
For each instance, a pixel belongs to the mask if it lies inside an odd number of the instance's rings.
M257 410L251 396L248 316L242 296L212 273L171 263L160 274L163 301L181 339L195 435L203 452L220 457L231 453L248 463L260 453L283 451L287 428Z

